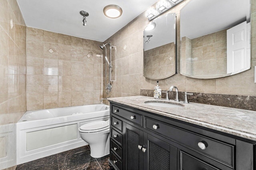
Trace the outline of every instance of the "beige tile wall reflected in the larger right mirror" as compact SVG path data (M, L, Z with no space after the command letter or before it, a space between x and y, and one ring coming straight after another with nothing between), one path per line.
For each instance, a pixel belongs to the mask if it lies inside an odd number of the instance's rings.
M181 72L191 76L225 76L227 70L226 30L194 39L182 37L181 49L182 55L185 56L181 58L186 57L186 63L182 63ZM190 69L185 69L186 65Z

